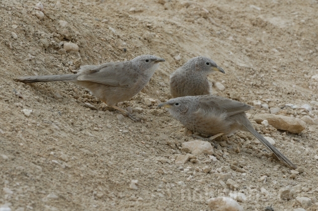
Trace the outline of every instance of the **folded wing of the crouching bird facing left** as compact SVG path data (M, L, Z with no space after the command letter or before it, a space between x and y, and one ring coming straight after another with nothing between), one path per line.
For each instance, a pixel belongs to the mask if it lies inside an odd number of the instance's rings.
M199 107L201 109L210 110L211 108L215 108L220 111L226 111L227 116L232 116L253 108L239 101L220 96L205 95L200 96L199 99Z

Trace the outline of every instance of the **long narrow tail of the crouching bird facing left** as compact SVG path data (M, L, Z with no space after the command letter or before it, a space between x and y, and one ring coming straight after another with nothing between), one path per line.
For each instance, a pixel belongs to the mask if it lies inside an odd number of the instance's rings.
M246 127L246 129L251 132L263 145L265 145L265 147L267 147L267 149L269 149L270 151L272 151L275 156L281 160L283 160L284 162L286 162L288 165L290 165L292 168L296 169L296 165L294 165L288 158L286 158L281 152L279 152L279 150L277 150L271 143L269 143L262 135L260 135L251 125L251 123L246 123L244 124L244 126Z

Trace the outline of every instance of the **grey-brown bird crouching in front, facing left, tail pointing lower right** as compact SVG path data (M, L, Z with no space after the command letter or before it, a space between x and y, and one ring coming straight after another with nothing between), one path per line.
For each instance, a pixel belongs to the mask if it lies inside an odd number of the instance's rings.
M250 132L277 158L292 168L297 168L253 128L245 114L252 106L220 96L202 95L170 99L158 107L166 107L173 118L185 127L197 133L211 135L210 139L231 135L238 130Z

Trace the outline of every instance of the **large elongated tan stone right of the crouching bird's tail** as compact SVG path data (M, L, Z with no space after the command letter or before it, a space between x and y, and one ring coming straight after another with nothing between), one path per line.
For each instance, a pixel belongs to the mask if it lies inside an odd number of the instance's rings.
M279 130L286 130L291 133L301 133L306 128L306 122L289 116L275 114L259 114L254 116L254 120L259 124L264 120Z

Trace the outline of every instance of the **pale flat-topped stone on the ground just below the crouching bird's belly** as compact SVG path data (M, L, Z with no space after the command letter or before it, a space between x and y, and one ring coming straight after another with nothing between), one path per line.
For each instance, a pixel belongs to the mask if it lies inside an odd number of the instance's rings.
M181 144L182 148L187 148L191 151L192 154L201 155L201 154L208 154L213 155L213 147L210 142L202 141L202 140L194 140L188 141Z

